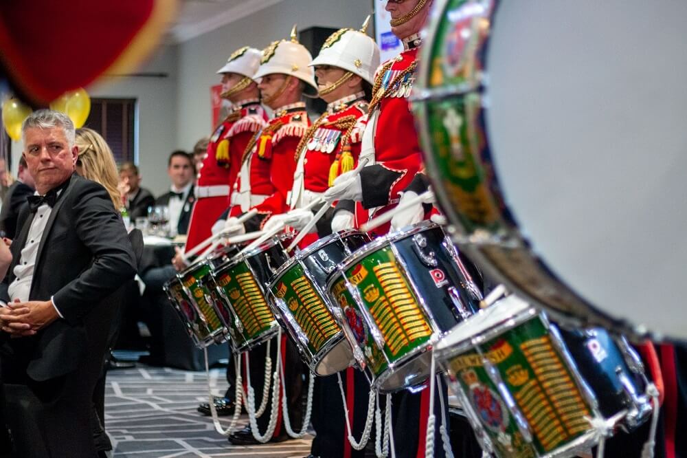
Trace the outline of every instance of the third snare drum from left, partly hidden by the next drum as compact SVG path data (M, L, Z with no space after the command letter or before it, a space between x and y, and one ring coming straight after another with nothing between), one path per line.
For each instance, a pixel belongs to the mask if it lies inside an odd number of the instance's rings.
M324 285L338 263L369 241L358 230L330 235L297 253L269 285L273 312L317 375L337 373L353 362L350 344L330 312Z

